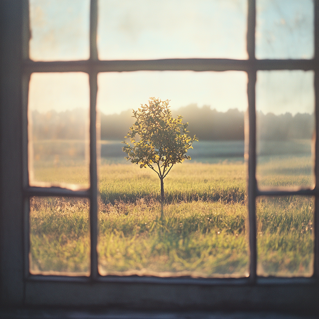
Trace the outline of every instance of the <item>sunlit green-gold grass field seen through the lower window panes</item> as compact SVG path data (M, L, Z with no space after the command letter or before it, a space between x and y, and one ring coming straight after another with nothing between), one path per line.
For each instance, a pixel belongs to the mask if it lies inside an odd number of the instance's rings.
M281 176L281 183L297 178L297 173ZM39 174L52 176L49 168ZM65 170L63 178L67 176L75 180ZM83 181L80 175L76 178ZM150 169L100 167L100 273L247 276L244 164L185 162L176 165L164 183L166 203L161 205L159 179ZM257 200L259 274L311 275L312 207L308 197ZM84 199L31 199L33 273L88 274L88 210Z

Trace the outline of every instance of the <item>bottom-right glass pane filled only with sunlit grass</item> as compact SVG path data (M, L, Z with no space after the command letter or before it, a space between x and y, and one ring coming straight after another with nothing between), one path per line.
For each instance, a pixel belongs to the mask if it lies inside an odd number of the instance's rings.
M256 200L259 276L312 275L313 207L313 197L261 197Z

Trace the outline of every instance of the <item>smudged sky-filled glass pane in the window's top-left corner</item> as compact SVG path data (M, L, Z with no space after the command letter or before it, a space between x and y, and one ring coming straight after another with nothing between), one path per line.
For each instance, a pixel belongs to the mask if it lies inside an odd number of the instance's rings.
M89 0L29 0L29 10L31 60L89 58Z

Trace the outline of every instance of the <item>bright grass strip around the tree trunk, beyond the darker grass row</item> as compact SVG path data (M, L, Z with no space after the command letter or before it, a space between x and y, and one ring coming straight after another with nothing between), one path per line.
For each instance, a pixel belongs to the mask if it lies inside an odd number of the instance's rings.
M100 196L105 203L139 198L160 198L159 178L138 165L105 165L100 168ZM164 179L168 203L178 201L243 202L246 191L245 166L242 163L177 164Z

